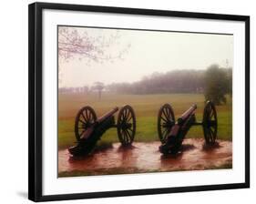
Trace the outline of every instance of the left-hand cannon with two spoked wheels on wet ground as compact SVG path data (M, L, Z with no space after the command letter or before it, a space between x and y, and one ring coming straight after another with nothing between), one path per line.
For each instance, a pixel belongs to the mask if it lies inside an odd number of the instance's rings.
M136 133L136 117L132 107L126 105L118 112L118 121L115 123L114 114L118 107L113 108L102 117L98 117L92 107L82 107L75 119L75 136L77 145L68 148L74 156L87 155L96 147L97 141L109 128L117 128L118 139L121 145L130 146Z

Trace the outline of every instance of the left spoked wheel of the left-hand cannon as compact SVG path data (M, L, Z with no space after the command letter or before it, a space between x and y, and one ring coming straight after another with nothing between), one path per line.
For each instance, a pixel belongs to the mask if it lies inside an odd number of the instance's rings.
M82 107L75 120L75 135L77 141L86 132L87 128L91 127L97 120L96 113L92 107Z

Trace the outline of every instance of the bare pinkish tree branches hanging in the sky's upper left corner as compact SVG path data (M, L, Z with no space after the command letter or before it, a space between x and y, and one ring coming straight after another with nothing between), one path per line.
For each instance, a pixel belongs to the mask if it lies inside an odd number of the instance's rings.
M58 27L58 76L61 83L63 72L61 64L70 59L78 58L85 60L90 66L91 62L104 63L105 61L114 62L123 59L128 52L130 44L118 47L115 52L109 51L111 46L118 45L121 35L118 30L104 34L92 35L87 29L59 26Z

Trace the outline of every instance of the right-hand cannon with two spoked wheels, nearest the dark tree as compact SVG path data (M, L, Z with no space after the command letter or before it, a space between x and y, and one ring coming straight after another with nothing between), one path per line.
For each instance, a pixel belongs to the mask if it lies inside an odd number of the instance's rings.
M217 138L218 121L214 104L207 101L202 121L197 121L195 111L197 105L189 107L175 122L172 107L165 104L159 109L158 133L161 145L159 151L162 154L176 154L179 152L182 141L192 126L202 126L206 145L214 145Z

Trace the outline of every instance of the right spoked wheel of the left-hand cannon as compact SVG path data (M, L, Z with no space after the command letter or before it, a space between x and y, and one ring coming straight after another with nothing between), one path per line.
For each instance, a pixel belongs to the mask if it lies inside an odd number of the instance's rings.
M132 107L126 105L118 113L118 138L123 146L131 145L136 133L136 118Z

